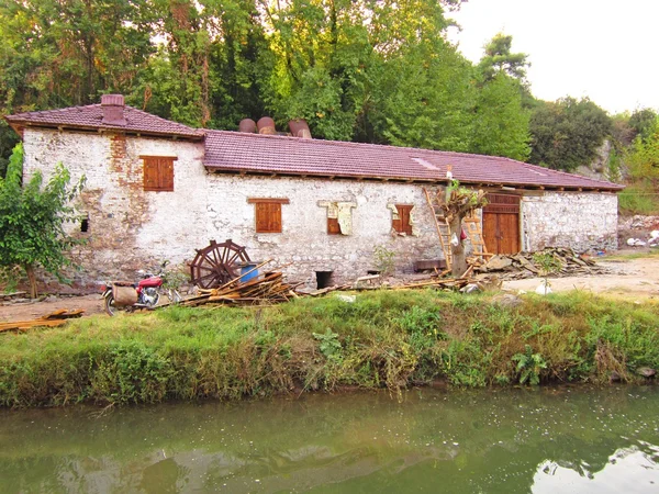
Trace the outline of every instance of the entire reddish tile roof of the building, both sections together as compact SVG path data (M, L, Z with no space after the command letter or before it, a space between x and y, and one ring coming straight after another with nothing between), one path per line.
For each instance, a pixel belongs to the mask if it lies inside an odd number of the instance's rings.
M204 131L160 119L132 106L124 106L123 115L125 125L103 123L101 104L90 104L19 113L5 119L12 125L122 130L196 139L205 136L204 165L213 171L444 182L450 165L454 178L465 183L611 191L623 189L623 186L616 183L495 156Z

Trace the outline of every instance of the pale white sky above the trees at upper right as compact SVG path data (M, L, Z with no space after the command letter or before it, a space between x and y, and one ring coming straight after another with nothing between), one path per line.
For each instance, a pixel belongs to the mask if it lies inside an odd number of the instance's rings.
M462 27L450 41L473 61L496 33L512 35L536 98L659 110L659 0L467 0L448 16Z

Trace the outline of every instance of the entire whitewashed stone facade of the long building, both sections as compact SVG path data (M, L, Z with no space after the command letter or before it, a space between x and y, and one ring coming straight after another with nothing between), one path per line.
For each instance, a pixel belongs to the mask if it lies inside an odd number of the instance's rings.
M107 279L134 279L137 269L166 259L185 267L211 239L231 238L254 260L288 265L289 278L310 288L319 271L332 271L332 283L344 283L378 270L377 246L393 252L399 272L411 272L415 260L444 257L418 184L206 173L203 144L185 141L30 127L23 141L25 175L41 169L47 177L62 161L74 180L87 179L79 207L89 231L70 225L87 242L74 252L83 268L70 273L76 291ZM176 157L174 192L144 191L139 156ZM288 200L281 205L281 233L256 233L250 198ZM332 203L348 206L349 235L327 234ZM392 204L414 205L414 235L392 232ZM613 249L616 225L615 194L545 192L522 200L525 250L549 245Z

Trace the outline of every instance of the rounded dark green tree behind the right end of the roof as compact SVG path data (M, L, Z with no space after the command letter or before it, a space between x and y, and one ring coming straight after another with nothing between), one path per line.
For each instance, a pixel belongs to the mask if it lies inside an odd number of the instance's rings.
M529 161L565 171L589 165L612 133L612 121L606 112L588 98L538 102L529 125Z

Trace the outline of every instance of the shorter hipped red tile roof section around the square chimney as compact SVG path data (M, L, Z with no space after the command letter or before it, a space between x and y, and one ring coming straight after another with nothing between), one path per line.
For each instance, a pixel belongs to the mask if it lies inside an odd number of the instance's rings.
M203 131L160 119L159 116L152 115L150 113L143 112L142 110L132 106L124 106L124 117L126 120L126 125L102 123L103 110L100 104L16 113L15 115L5 116L7 121L13 125L35 125L45 127L62 126L80 130L108 128L147 135L203 138Z

